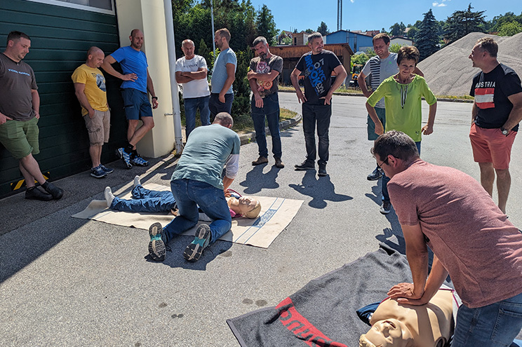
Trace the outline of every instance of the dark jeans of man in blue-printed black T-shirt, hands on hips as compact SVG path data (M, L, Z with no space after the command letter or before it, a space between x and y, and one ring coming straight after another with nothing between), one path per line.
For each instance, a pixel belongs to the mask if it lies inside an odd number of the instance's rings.
M328 161L328 147L330 140L328 130L332 117L331 104L302 104L302 130L304 132L304 145L307 149L307 162L315 163L316 145L315 128L317 124L317 136L319 137L319 165L326 165Z

